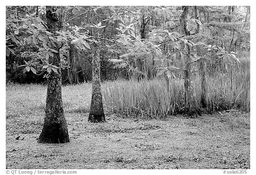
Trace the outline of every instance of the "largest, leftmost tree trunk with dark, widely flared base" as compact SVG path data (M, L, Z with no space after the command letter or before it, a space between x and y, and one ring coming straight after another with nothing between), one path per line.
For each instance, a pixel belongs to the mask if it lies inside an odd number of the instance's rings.
M61 17L55 16L54 6L46 6L46 17L50 31L60 28ZM54 33L56 36L56 33ZM61 72L60 72L60 47L52 47L58 53L49 57L49 63L59 67L57 73L52 71L48 78L48 88L45 107L44 127L38 138L39 143L66 143L69 142L67 121L64 117L62 97L61 97Z

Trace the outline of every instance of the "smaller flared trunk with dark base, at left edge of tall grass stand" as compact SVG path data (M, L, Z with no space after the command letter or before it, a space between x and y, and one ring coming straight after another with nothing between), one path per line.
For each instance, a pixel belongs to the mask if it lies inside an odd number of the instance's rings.
M89 122L105 122L105 115L100 89L100 48L96 46L96 54L92 59L92 101L88 117Z

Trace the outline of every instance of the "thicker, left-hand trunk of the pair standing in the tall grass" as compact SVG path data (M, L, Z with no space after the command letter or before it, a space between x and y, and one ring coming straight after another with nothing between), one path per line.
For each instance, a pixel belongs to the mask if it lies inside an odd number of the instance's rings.
M182 15L180 19L180 34L184 35L184 37L189 35L188 31L188 24L187 24L187 18L188 18L188 6L182 6ZM184 45L185 47L185 45ZM200 109L198 107L198 103L196 102L196 93L194 90L194 81L192 79L192 71L191 71L191 57L189 56L189 50L188 48L188 55L185 56L184 59L184 90L185 90L185 113L188 116L200 114Z

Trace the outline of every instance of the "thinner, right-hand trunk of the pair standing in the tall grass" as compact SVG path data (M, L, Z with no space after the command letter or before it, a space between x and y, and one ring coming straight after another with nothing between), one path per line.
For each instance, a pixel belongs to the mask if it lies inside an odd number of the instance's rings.
M197 6L194 6L194 12L195 12L195 19L198 20L198 16L197 16ZM198 23L196 23L197 25L197 29L196 29L196 33L199 34L200 32L200 25ZM200 84L201 84L201 95L200 95L200 104L201 107L205 108L207 107L207 87L206 87L206 78L205 78L205 63L204 60L200 61L199 64L199 74L200 74Z

